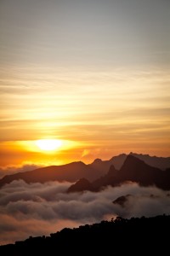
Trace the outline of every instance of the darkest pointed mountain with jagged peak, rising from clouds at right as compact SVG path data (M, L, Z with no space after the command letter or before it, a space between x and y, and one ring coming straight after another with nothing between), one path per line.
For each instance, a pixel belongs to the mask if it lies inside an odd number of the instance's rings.
M105 186L116 186L128 181L139 183L142 186L155 185L160 189L170 189L170 169L161 171L129 154L119 171L116 171L115 167L111 166L105 176L96 179L91 185L95 191L99 191ZM76 188L77 183L71 186L73 191L76 191ZM81 191L80 186L77 191Z

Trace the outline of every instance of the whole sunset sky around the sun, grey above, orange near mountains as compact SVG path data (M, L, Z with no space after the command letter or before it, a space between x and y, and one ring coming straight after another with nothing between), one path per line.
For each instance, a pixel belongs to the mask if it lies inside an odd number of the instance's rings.
M0 166L169 156L168 0L0 0L0 34Z

